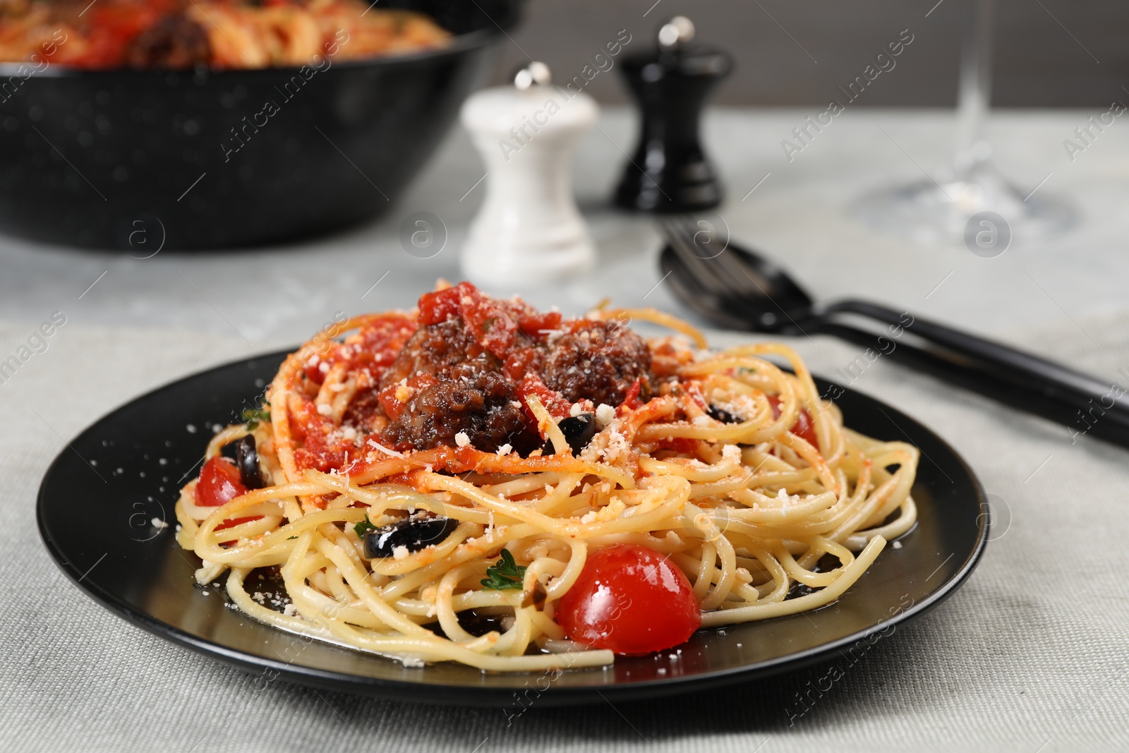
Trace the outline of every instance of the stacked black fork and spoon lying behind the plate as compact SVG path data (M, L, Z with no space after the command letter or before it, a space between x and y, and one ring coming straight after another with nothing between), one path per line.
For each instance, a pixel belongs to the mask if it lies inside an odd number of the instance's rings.
M898 360L1064 423L1075 436L1092 432L1129 446L1129 399L1118 384L879 304L844 300L816 307L786 272L753 252L720 243L708 222L665 218L658 228L667 242L660 263L675 292L717 324L770 333L831 334L878 345L885 352L874 333L835 321L841 314L865 316L924 342L925 348L899 342L889 353Z

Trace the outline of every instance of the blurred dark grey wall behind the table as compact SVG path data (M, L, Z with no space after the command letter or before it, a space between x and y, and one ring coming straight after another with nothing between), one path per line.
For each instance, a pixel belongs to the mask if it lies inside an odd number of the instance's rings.
M665 19L683 14L698 25L699 41L736 60L718 89L720 104L825 104L909 28L913 43L857 104L948 106L970 7L969 0L527 0L524 23L501 43L496 81L525 60L523 50L558 78L571 78L619 29L632 34L634 52L653 44ZM1129 88L1126 0L999 0L994 42L996 106L1129 100L1121 88ZM625 96L614 70L596 76L588 91L609 103Z

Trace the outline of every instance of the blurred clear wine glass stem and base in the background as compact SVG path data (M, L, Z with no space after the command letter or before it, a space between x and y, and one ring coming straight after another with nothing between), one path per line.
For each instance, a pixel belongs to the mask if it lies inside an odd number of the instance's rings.
M966 226L981 212L1003 218L1013 237L1045 236L1074 224L1069 207L1035 191L1019 191L990 159L991 146L982 128L991 99L994 5L995 0L970 3L952 164L936 181L884 189L856 201L852 213L867 225L926 243L945 243L966 237Z

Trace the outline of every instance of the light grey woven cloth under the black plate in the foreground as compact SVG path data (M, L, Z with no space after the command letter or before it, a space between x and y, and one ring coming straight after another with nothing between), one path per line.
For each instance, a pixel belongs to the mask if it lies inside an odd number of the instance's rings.
M1027 342L1123 383L1123 318L1079 324L1101 349L1073 323ZM15 352L28 334L24 325L0 326L0 353ZM858 354L823 339L795 345L824 374ZM34 518L40 478L64 438L152 385L250 350L235 338L68 323L0 385L0 748L1033 753L1129 746L1122 572L1129 454L1086 438L1071 444L1065 428L884 359L855 386L951 441L1000 500L1007 523L964 588L857 663L842 659L844 676L803 716L794 718L796 694L808 683L824 684L829 666L697 697L579 709L534 704L513 719L501 710L403 706L281 681L261 689L251 675L142 632L84 596L49 561Z

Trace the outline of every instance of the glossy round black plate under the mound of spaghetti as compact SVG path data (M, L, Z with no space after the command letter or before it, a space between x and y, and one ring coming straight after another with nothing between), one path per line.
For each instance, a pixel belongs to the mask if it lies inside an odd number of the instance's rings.
M38 523L62 571L112 612L208 656L294 682L400 700L517 708L515 693L533 693L551 706L761 677L834 651L868 649L895 624L956 590L987 542L983 491L953 448L908 415L848 389L837 401L848 426L921 449L913 487L919 519L901 537L902 548L887 545L834 604L701 630L680 649L621 657L606 671L551 677L487 674L450 663L404 667L248 620L227 607L222 589L193 586L199 560L175 542L173 505L201 459L208 427L235 421L244 406L257 404L283 357L272 353L190 376L103 418L51 464L40 488ZM155 528L155 517L169 527Z

